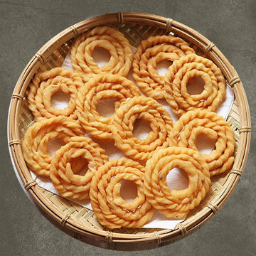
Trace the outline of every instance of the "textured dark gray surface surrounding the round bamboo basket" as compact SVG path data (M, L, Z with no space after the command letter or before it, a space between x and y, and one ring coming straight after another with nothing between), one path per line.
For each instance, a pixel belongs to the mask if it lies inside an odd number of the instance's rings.
M11 93L23 68L36 51L50 38L74 23L90 16L118 11L137 11L171 17L213 41L238 71L252 117L252 139L247 165L240 183L225 206L188 238L156 250L139 252L139 255L256 255L256 1L253 0L0 1L0 254L138 254L86 245L50 224L23 193L11 166L6 139Z

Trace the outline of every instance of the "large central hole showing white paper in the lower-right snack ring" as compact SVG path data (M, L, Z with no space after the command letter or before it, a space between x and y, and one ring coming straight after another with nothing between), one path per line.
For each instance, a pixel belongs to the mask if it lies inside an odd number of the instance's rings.
M181 168L174 168L166 176L166 183L171 190L183 190L188 188L188 175Z

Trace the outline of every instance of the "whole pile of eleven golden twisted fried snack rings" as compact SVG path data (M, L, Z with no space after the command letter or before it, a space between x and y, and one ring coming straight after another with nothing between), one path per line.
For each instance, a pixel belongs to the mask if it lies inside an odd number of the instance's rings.
M96 48L109 60L97 63ZM189 93L198 79L202 91ZM233 130L215 112L228 112L229 90L220 69L181 38L150 36L132 48L115 28L95 27L75 38L63 67L31 80L36 122L23 139L24 158L41 186L87 200L107 228L166 228L165 221L174 228L206 196L210 176L233 165ZM53 106L59 92L70 96L65 107L60 97L62 109ZM215 142L210 154L198 150L201 135ZM54 141L59 149L50 154ZM125 182L136 187L132 200Z

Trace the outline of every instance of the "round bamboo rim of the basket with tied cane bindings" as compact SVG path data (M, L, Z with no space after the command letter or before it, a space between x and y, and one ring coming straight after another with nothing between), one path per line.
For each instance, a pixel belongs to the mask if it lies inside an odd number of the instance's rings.
M206 206L199 213L196 213L196 215L193 216L193 221L188 223L185 220L175 230L162 230L158 232L158 235L154 233L148 233L144 235L130 235L111 232L111 240L117 244L122 244L123 242L139 243L142 242L142 240L146 242L159 240L159 238L162 244L164 242L182 238L188 233L192 233L198 227L206 223L206 221L210 219L218 211L218 209L223 206L225 201L228 200L230 194L233 192L235 186L238 184L240 176L242 175L242 171L245 168L245 163L250 147L250 111L245 95L245 90L242 87L242 82L240 81L235 68L233 68L233 66L229 63L223 53L220 52L214 43L210 42L207 38L201 35L201 33L198 33L192 28L183 25L183 23L179 23L178 21L174 21L171 18L165 18L155 14L122 12L103 14L100 16L87 18L84 21L80 21L79 23L76 23L73 26L70 26L69 28L61 31L58 33L58 35L51 38L50 41L48 41L40 50L38 50L33 58L31 58L31 60L26 65L26 68L24 68L23 72L18 78L16 86L14 87L14 93L11 97L8 115L7 137L9 142L9 151L11 160L13 161L13 166L17 170L22 183L27 184L31 181L31 178L28 176L28 174L24 174L23 172L23 169L27 169L27 167L25 160L23 159L21 143L19 141L17 115L18 110L21 107L21 100L23 100L25 95L28 82L31 80L34 73L36 73L36 70L39 68L39 66L46 62L48 56L53 52L53 50L74 36L78 36L78 34L94 26L100 26L106 23L119 23L122 25L122 23L129 22L146 23L150 26L164 28L166 31L172 31L177 36L181 36L181 38L185 38L188 41L195 43L198 48L201 48L206 53L208 53L208 56L218 65L227 80L230 82L230 85L233 86L235 98L238 100L240 112L240 140L238 144L238 152L241 154L239 157L235 157L233 171L230 172L227 181L225 182L225 186L223 186L223 191L220 193L220 196L218 198L214 198L215 200L210 203L211 206ZM38 186L31 186L27 191L37 206L39 206L44 212L50 215L53 220L61 223L63 220L63 213L58 212L58 210L53 208L53 206L50 206L50 204L47 204L46 201L43 201ZM91 236L92 238L95 238L96 235L97 238L109 240L110 234L107 233L107 231L95 230L94 228L85 229L82 225L75 223L75 221L71 219L65 221L65 227L73 230L76 233Z

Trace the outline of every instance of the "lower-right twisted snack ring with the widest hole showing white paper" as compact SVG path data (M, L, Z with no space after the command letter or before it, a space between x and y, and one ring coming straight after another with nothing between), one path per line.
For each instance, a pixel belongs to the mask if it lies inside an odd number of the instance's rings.
M166 176L174 167L188 175L188 188L170 189ZM146 162L145 195L167 218L183 218L206 196L210 186L208 164L198 151L178 146L161 149Z

